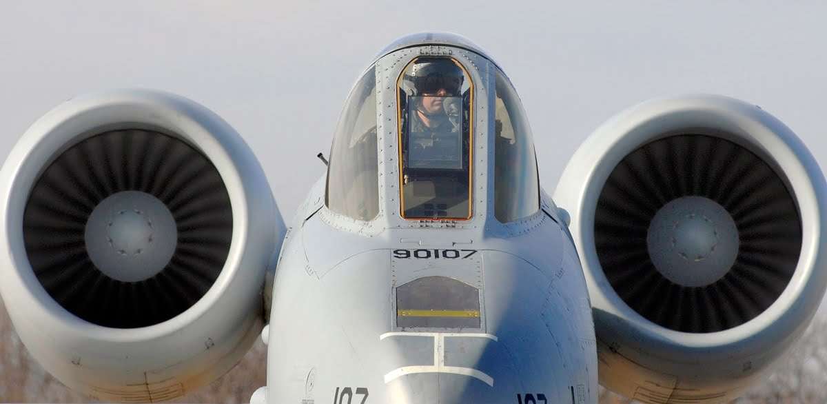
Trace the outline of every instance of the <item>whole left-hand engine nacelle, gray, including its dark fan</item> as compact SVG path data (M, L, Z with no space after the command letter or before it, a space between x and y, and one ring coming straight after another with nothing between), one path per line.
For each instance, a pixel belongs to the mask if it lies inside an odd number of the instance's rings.
M172 94L71 99L0 171L0 290L68 387L158 402L222 376L261 330L284 224L237 132Z

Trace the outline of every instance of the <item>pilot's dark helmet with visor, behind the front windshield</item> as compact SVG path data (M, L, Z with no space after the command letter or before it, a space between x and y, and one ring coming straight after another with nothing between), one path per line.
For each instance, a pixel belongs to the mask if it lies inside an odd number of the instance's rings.
M420 58L405 70L404 81L409 95L433 95L445 89L447 96L460 96L464 74L447 58Z

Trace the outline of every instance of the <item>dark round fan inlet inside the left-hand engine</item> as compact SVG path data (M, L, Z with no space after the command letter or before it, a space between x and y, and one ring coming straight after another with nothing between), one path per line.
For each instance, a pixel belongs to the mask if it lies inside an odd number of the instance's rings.
M63 151L31 190L26 253L41 285L113 328L170 320L218 278L232 239L221 176L189 144L122 130Z

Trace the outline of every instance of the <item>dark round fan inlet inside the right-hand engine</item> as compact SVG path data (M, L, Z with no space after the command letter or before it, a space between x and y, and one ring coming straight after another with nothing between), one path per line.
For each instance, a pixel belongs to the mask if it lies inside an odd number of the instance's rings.
M600 266L638 314L710 333L752 320L781 296L801 252L784 180L723 138L650 142L614 168L595 211Z

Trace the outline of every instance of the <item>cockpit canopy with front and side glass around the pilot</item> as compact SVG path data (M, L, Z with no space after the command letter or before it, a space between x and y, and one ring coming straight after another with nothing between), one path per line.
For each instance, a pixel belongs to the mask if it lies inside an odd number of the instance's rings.
M423 44L427 49L428 44ZM452 55L416 52L397 73L383 73L377 83L375 65L361 77L347 99L339 120L327 175L328 209L351 219L370 221L380 213L382 175L398 177L399 189L385 187L385 200L399 204L402 219L467 220L474 217L474 200L494 198L495 218L509 223L539 209L537 163L531 129L514 87L493 62L476 67L475 75ZM390 51L385 57L394 57ZM381 60L381 58L380 58ZM494 77L483 76L490 72ZM385 81L383 81L385 80ZM476 85L492 80L488 85ZM395 105L382 105L376 86L395 89ZM494 108L483 110L475 99ZM383 118L384 114L384 118ZM394 130L377 140L377 124L394 121ZM475 118L480 115L479 118ZM486 118L487 117L487 118ZM475 123L494 124L474 127ZM491 132L491 133L489 133ZM478 137L472 136L477 133ZM480 133L487 135L480 137ZM493 142L475 140L494 137ZM394 144L391 144L394 142ZM490 150L492 145L494 150ZM380 147L396 150L396 167L380 166ZM493 192L474 195L475 153L494 159ZM382 172L380 172L382 171ZM482 172L482 171L480 171ZM480 190L476 187L476 190ZM394 193L394 195L390 195ZM395 209L394 209L395 210Z

